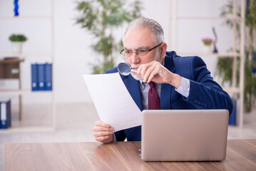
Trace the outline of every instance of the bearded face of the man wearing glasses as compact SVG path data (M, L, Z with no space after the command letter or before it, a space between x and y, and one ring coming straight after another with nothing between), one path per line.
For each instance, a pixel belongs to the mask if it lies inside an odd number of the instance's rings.
M130 29L126 36L123 38L124 51L137 51L139 49L148 50L156 46L153 35L148 28L133 28ZM133 53L131 56L126 57L126 61L130 66L137 70L137 68L144 63L150 63L152 61L159 61L161 63L161 57L159 47L149 51L147 55L140 56ZM132 73L135 79L141 79L140 76Z

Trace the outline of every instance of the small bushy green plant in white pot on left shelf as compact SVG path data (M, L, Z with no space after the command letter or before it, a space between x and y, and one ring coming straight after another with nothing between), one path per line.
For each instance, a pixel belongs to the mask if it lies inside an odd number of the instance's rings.
M11 52L22 53L22 45L28 38L23 34L11 34L9 40L11 41Z

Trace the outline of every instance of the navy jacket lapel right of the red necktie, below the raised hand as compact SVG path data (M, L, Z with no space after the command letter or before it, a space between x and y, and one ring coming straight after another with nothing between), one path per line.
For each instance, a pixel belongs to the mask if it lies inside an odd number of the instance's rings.
M173 56L165 56L165 68L172 73L174 73L175 68L173 67ZM161 109L170 109L170 95L171 91L174 87L170 86L170 84L163 83L161 85L161 95L160 95L160 105Z

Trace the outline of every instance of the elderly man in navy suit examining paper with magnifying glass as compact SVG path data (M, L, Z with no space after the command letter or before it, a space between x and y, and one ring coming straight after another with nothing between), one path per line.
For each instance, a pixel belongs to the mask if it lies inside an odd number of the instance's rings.
M121 76L140 110L145 109L227 109L232 100L213 81L210 71L198 56L180 57L166 51L163 28L152 19L133 20L123 36L121 53L137 73ZM116 73L112 68L107 73ZM124 109L125 110L125 109ZM93 135L97 141L141 140L141 126L113 133L108 123L96 121Z

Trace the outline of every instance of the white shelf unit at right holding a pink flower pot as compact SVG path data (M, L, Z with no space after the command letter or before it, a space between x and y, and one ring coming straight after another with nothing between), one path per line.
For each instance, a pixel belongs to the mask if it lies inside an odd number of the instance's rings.
M216 58L223 58L223 57L230 57L234 58L233 63L232 63L232 86L229 88L224 88L224 90L227 91L227 93L233 93L236 95L239 95L239 127L242 128L243 125L243 117L244 117L244 88L245 88L245 9L246 9L246 1L245 0L239 0L240 1L240 11L241 11L241 16L237 16L237 0L233 0L233 11L232 11L232 16L230 17L219 17L219 16L178 16L178 0L172 0L170 1L170 10L169 12L169 26L171 24L173 25L173 28L169 27L169 35L173 36L173 41L170 38L169 40L169 45L172 45L173 49L177 49L178 47L178 21L180 20L223 20L223 19L232 19L232 51L229 53L184 53L183 51L177 51L179 56L200 56L200 57L208 57L208 56L215 56ZM216 9L218 10L218 9ZM236 33L236 24L237 21L240 21L240 53L237 53L236 47L237 47L237 33ZM240 83L239 86L236 87L236 63L237 63L237 58L240 58Z

